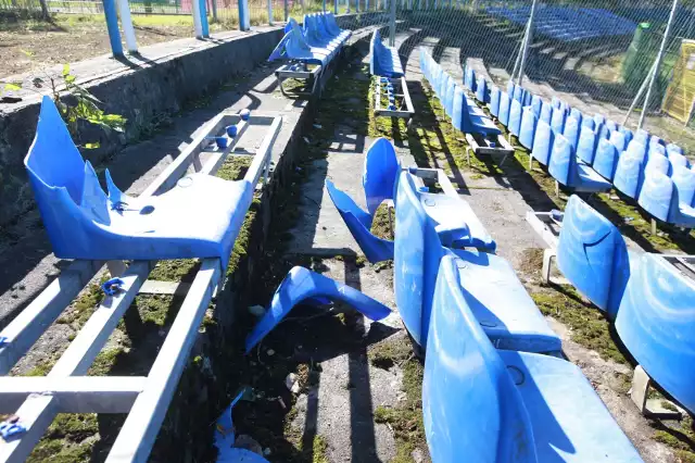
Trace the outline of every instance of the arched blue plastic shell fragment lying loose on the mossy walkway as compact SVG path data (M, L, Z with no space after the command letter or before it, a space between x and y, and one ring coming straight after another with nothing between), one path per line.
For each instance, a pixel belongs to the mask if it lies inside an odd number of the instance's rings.
M247 353L270 333L296 304L315 298L345 302L374 321L386 318L391 313L391 309L381 302L348 285L339 284L316 272L296 266L280 283L273 295L270 306L247 337Z

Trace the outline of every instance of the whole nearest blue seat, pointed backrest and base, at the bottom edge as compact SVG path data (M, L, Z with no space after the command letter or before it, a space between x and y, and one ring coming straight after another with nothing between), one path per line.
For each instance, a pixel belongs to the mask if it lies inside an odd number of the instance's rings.
M442 259L433 289L422 384L432 461L642 462L578 366L494 348L459 265Z

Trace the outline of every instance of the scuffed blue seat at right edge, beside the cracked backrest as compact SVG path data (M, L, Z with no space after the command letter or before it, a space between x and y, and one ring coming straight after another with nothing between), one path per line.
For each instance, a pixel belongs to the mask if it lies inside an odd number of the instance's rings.
M695 413L695 281L658 254L643 254L616 329L645 372Z

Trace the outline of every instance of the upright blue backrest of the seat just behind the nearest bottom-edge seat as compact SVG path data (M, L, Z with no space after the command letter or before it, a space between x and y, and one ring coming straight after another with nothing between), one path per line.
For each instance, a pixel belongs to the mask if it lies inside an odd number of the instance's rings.
M401 172L396 190L395 229L407 233L395 234L395 303L413 339L425 347L442 245L420 202L414 176Z

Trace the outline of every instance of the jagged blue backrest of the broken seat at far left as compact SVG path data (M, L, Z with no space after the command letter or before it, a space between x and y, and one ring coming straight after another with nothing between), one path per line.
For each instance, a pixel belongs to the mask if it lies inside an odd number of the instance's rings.
M37 202L48 200L55 188L65 188L76 204L81 202L85 161L75 147L55 103L41 100L34 142L24 158Z

